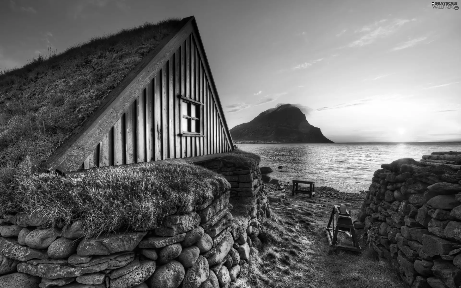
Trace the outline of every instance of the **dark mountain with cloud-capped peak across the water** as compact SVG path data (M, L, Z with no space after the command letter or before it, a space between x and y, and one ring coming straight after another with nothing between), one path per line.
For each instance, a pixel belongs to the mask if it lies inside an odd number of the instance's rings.
M231 130L232 140L238 143L283 142L283 143L334 143L306 120L301 110L291 104L271 108L248 123Z

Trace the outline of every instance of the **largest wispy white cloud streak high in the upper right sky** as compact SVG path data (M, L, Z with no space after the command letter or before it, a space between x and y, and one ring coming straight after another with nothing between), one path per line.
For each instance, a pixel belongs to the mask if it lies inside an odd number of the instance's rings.
M408 19L396 19L388 25L381 26L380 24L386 22L387 19L383 19L375 22L372 25L364 26L361 29L355 31L356 33L365 33L359 39L350 42L347 47L362 47L373 43L379 38L384 38L391 34L394 34L403 24L410 21L416 21L415 18ZM342 47L343 48L343 47Z

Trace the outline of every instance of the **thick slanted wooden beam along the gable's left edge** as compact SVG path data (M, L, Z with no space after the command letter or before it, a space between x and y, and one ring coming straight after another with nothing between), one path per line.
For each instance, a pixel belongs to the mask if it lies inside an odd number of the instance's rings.
M192 31L192 20L184 18L178 27L167 35L136 68L114 88L98 109L86 119L48 160L45 168L49 171L76 170L87 158L89 151L109 133L118 118L128 109L138 96L138 88L146 87L149 81L177 50Z

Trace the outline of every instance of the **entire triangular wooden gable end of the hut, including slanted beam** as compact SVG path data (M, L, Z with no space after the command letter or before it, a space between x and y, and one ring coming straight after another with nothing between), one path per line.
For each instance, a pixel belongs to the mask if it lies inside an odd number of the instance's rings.
M194 115L186 112L190 107L197 109ZM191 122L197 124L195 132L186 131ZM48 159L46 168L69 172L233 149L192 16L130 71Z

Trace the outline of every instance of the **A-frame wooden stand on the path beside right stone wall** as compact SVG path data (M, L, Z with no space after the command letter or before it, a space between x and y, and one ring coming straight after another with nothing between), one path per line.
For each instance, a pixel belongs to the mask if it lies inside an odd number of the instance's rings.
M330 228L330 225L332 227ZM338 231L345 231L349 237L352 237L352 241L354 246L348 246L344 244L338 244ZM330 221L328 221L328 225L325 227L326 237L328 238L328 242L330 243L330 247L350 250L355 252L361 252L362 248L359 245L359 241L357 240L357 235L355 235L354 224L352 223L352 218L350 217L350 211L346 210L346 206L344 204L335 205L333 210L331 211Z

